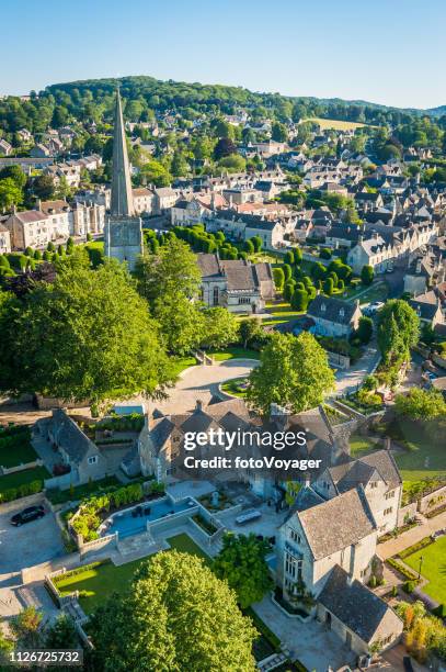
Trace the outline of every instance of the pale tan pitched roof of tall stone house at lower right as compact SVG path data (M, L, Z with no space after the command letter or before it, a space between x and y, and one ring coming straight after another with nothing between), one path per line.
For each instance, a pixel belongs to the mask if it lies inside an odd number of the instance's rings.
M297 516L316 560L356 544L376 530L361 488L348 490Z

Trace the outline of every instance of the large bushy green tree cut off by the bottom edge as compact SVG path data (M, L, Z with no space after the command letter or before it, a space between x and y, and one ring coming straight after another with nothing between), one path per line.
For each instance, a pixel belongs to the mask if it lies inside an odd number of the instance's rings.
M190 553L158 553L89 624L98 672L254 671L255 630L236 595Z

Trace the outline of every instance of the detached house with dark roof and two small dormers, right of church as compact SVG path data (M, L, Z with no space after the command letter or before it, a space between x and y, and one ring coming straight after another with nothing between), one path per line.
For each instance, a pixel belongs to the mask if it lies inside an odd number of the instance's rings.
M307 311L315 323L310 329L312 333L335 338L348 338L357 329L362 314L358 301L350 303L321 294L316 296Z

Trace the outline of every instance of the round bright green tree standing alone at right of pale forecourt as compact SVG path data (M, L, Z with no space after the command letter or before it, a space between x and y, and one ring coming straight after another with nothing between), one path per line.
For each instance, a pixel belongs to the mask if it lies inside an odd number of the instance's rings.
M320 404L333 387L327 352L311 334L274 333L250 374L247 400L264 416L272 403L300 413Z

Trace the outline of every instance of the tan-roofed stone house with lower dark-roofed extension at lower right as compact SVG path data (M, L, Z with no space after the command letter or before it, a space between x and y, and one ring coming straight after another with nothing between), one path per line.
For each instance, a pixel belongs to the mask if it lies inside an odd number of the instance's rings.
M316 613L357 654L394 643L403 624L364 583L376 555L377 524L362 484L327 502L306 485L279 528L276 580L286 598L304 585Z

